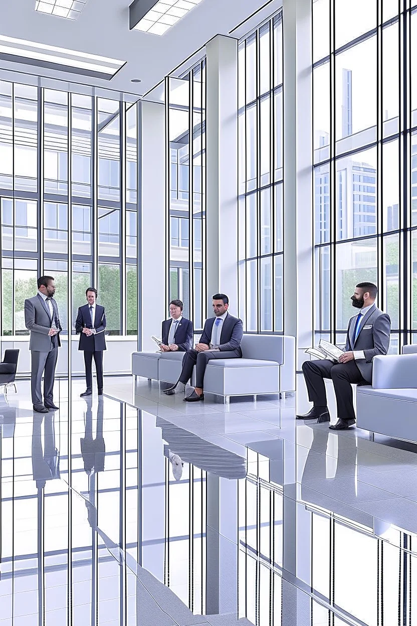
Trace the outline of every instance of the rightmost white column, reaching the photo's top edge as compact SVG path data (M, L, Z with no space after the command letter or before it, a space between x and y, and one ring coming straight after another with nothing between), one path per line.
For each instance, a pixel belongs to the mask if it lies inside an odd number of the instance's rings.
M314 310L310 0L283 1L283 39L284 330L296 334L301 369L313 342Z

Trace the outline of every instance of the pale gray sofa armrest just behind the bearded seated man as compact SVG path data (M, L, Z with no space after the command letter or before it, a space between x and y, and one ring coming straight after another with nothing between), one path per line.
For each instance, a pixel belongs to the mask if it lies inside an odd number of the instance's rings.
M416 389L417 354L374 356L372 386L374 389Z

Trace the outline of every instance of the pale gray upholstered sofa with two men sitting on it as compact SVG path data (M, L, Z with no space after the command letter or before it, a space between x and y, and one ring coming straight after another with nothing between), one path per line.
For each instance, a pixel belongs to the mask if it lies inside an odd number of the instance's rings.
M281 335L244 335L241 359L213 359L204 375L204 393L258 396L295 390L295 338ZM176 382L184 352L133 352L132 374ZM194 384L194 375L191 384Z

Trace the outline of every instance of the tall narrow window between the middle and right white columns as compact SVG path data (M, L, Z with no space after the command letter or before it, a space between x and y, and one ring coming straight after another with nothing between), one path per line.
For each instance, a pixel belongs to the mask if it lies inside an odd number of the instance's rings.
M281 13L239 43L239 317L283 332Z

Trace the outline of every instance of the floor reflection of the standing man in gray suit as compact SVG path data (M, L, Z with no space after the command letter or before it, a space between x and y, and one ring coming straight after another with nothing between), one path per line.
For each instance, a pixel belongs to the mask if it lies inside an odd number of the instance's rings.
M42 423L44 443L42 446ZM32 471L38 489L43 489L47 480L61 478L59 474L59 451L55 444L54 413L34 413L32 433Z

